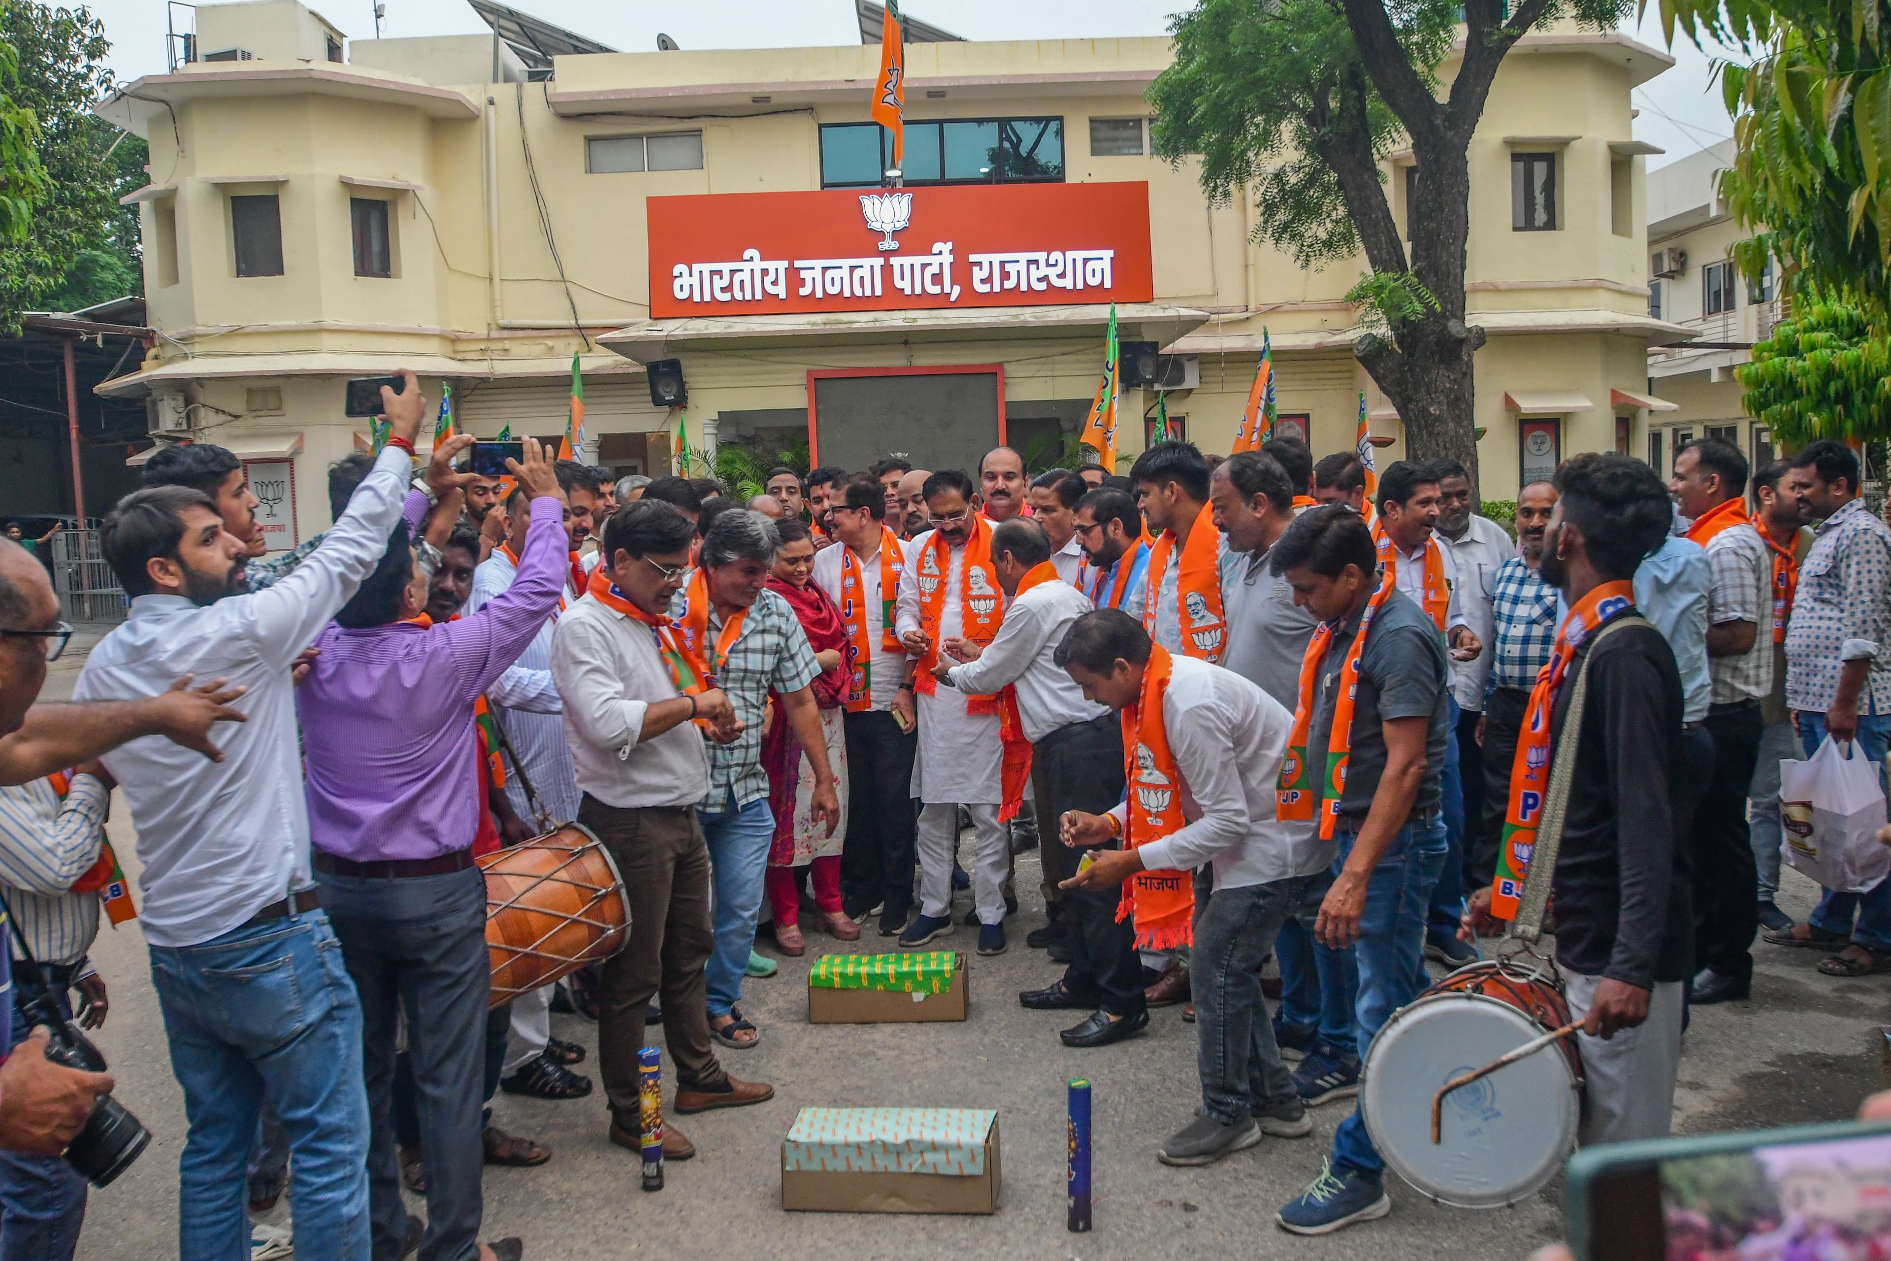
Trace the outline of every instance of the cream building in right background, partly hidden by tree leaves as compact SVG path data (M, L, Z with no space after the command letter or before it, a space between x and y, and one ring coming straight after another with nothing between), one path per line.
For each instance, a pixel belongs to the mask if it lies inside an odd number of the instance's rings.
M1685 346L1649 350L1649 391L1664 410L1636 454L1662 476L1691 439L1726 439L1755 469L1774 458L1772 435L1740 401L1734 369L1785 318L1787 299L1772 268L1751 284L1730 257L1751 234L1719 197L1719 174L1732 164L1734 142L1725 140L1649 176L1649 314L1692 333Z

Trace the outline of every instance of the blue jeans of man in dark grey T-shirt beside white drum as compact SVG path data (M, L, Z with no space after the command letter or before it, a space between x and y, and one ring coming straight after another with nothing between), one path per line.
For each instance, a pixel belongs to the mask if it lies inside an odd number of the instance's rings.
M1358 839L1345 828L1343 822L1341 864ZM1445 821L1439 815L1409 822L1392 838L1392 845L1365 883L1365 913L1360 917L1360 940L1354 943L1360 960L1360 1002L1354 1015L1360 1055L1371 1049L1386 1019L1426 987L1426 907L1445 866ZM1352 1170L1369 1180L1379 1180L1384 1172L1384 1161L1373 1149L1358 1108L1333 1134L1333 1168Z

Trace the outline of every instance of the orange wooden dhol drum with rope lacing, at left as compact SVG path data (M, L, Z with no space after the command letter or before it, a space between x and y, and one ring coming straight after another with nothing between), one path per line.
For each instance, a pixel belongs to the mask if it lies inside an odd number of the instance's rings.
M492 1006L609 959L630 940L624 881L590 828L565 824L478 864Z

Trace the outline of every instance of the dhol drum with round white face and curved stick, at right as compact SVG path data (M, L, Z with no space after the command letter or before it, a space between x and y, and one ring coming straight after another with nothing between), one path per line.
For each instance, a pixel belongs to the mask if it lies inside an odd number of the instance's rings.
M1456 1208L1503 1208L1539 1191L1575 1146L1583 1062L1573 1040L1447 1095L1437 1144L1431 1098L1568 1023L1554 972L1515 959L1460 968L1394 1011L1360 1072L1360 1112L1386 1165Z

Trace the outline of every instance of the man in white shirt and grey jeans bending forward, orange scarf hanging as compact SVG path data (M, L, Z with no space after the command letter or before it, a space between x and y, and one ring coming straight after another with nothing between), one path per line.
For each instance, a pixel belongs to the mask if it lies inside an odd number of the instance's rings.
M1070 628L1057 660L1084 696L1123 711L1142 700L1155 647L1142 624L1114 609L1089 613ZM1280 758L1293 728L1278 701L1240 675L1169 654L1161 732L1174 758L1184 826L1133 849L1106 849L1065 881L1067 889L1110 892L1138 872L1208 866L1212 892L1195 900L1191 985L1199 1042L1201 1110L1157 1149L1163 1165L1210 1165L1252 1148L1261 1134L1312 1132L1307 1106L1280 1062L1273 1021L1261 998L1261 960L1275 934L1305 898L1307 885L1333 862L1333 843L1275 817ZM1144 728L1154 715L1142 715ZM1125 735L1127 739L1127 735ZM1146 741L1136 785L1161 779ZM1136 809L1150 805L1136 788ZM1104 815L1063 817L1067 845L1099 845L1131 826L1129 800Z

